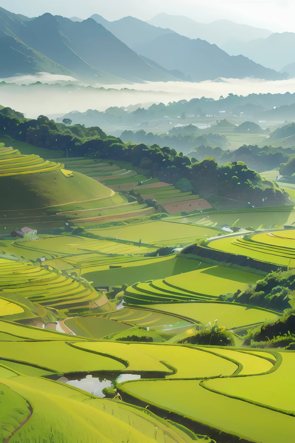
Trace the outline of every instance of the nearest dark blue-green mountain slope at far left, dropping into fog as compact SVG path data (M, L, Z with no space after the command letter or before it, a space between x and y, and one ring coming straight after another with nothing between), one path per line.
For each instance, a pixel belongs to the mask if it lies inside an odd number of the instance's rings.
M0 64L0 78L12 77L23 74L36 74L49 72L74 76L75 74L58 65L45 55L34 51L19 39L6 35L0 38L0 59L5 63Z

